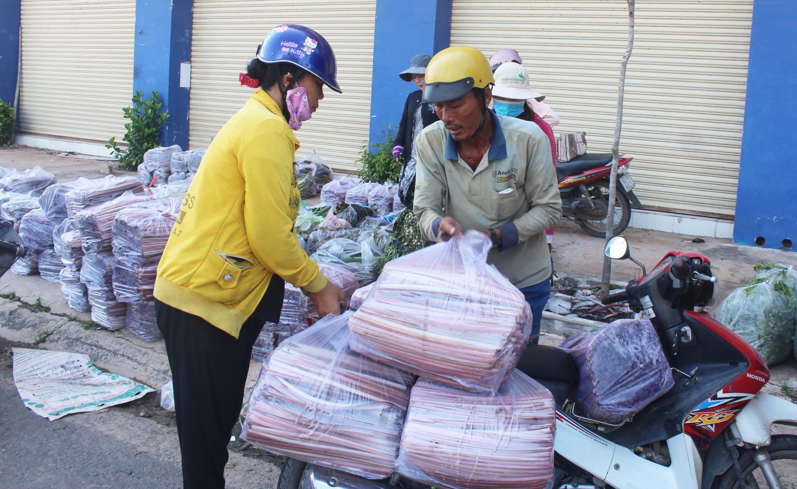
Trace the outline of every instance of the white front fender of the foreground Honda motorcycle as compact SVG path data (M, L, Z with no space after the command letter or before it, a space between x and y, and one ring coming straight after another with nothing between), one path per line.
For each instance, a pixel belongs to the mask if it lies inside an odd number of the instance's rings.
M748 444L767 446L772 424L797 426L797 405L777 396L758 393L734 420L734 435ZM733 428L732 428L733 429Z

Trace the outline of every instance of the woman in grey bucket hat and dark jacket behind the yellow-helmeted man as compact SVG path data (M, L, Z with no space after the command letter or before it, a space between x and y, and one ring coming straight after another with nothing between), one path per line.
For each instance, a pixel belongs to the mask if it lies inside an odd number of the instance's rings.
M434 105L423 102L423 80L426 76L426 65L432 59L428 54L416 54L410 60L410 68L398 73L404 81L413 81L418 90L410 93L404 103L401 122L398 123L398 135L393 142L393 158L402 157L401 174L398 178L398 198L412 209L412 194L415 186L415 159L418 152L414 147L415 136L431 123L437 122L438 115Z

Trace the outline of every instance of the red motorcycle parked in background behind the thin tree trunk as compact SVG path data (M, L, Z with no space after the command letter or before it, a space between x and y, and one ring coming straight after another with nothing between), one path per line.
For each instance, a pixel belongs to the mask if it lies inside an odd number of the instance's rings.
M636 184L628 173L634 158L620 158L614 209L614 233L622 233L631 221L631 205L642 207L633 190ZM609 209L611 153L587 153L556 165L562 215L574 220L595 237L606 237Z

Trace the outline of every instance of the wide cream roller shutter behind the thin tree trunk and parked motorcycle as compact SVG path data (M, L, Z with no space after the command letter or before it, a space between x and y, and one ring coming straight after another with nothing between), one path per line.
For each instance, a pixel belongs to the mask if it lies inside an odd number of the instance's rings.
M646 207L733 215L751 22L752 0L637 2L620 151ZM627 25L625 2L453 0L451 44L516 48L554 130L610 151Z

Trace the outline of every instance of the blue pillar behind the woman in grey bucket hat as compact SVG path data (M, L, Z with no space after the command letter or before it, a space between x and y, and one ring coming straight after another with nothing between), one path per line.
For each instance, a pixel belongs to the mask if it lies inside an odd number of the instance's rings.
M371 85L371 143L382 131L398 127L406 96L418 88L398 77L416 54L437 53L449 46L452 0L377 0L374 71Z

